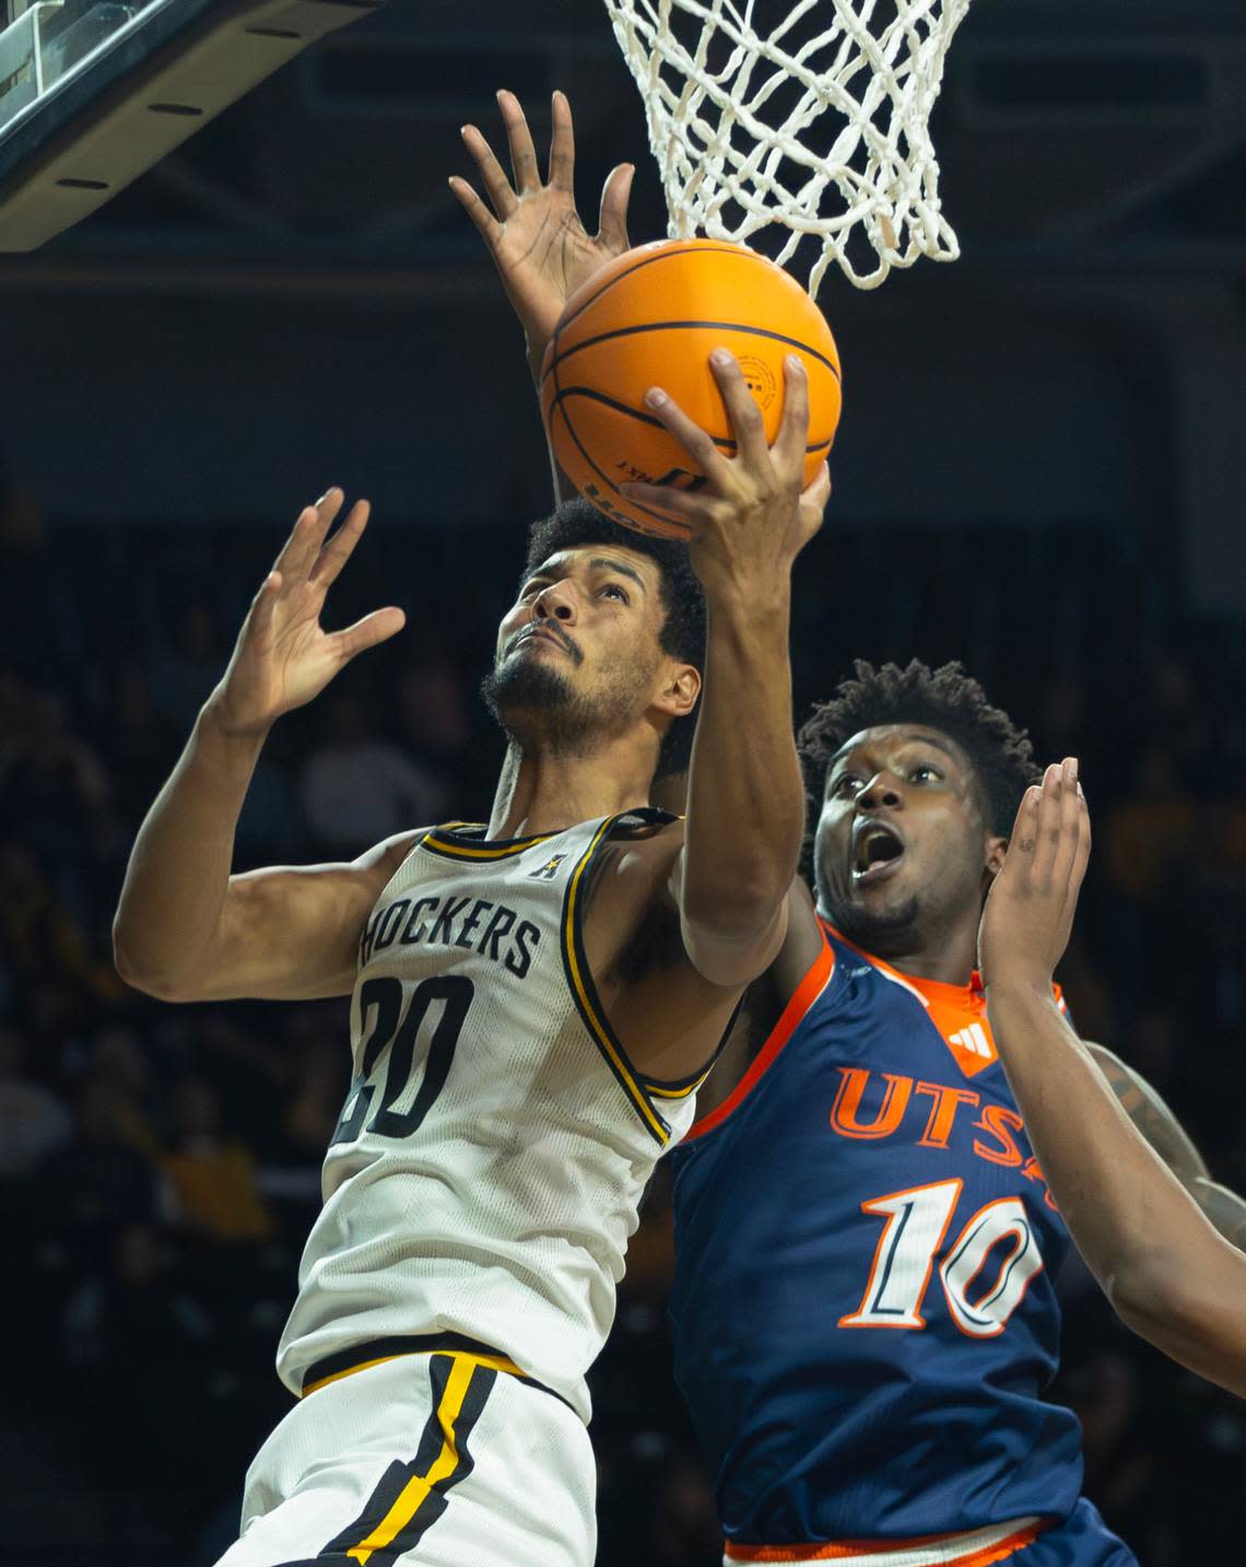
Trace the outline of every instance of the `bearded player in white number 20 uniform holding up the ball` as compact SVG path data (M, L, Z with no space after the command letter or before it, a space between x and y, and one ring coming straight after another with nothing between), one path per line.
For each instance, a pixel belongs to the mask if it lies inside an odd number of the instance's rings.
M739 365L711 357L736 459L650 398L709 464L679 501L690 545L582 501L532 531L485 682L509 736L487 826L230 876L274 721L402 627L390 606L321 630L368 519L330 536L330 490L139 831L116 918L131 984L352 997L355 1078L279 1349L301 1402L250 1468L227 1567L593 1561L584 1373L645 1180L783 943L803 831L790 570L828 481L801 494L803 371L767 448ZM693 722L676 820L650 788Z

